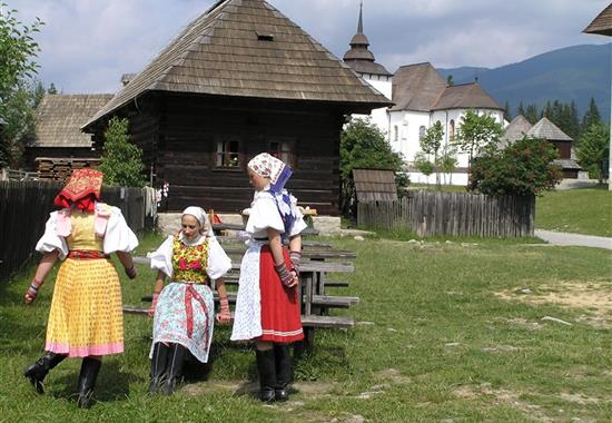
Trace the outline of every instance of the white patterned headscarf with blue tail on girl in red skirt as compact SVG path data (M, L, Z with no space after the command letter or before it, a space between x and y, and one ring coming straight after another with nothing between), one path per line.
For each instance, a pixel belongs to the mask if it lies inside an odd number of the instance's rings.
M248 167L257 175L270 179L269 193L276 203L276 208L285 226L283 238L287 238L297 217L295 205L292 206L292 195L284 189L285 184L293 175L292 168L267 153L255 156L248 163Z

